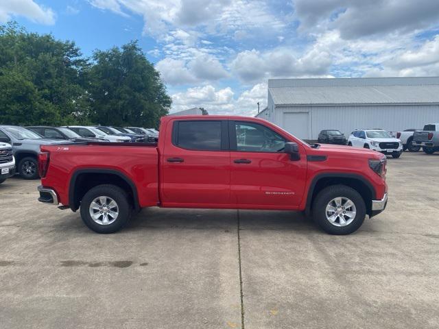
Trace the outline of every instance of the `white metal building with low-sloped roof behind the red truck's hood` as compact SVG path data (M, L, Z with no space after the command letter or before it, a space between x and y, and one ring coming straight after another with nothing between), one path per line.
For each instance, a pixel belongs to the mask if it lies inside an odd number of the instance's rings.
M422 129L439 121L439 77L268 80L257 117L309 140L325 129Z

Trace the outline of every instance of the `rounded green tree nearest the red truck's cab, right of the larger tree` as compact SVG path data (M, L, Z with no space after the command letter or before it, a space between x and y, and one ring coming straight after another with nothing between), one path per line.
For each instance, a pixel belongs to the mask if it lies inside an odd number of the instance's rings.
M89 72L91 119L106 125L157 127L171 98L154 66L133 41L95 51Z

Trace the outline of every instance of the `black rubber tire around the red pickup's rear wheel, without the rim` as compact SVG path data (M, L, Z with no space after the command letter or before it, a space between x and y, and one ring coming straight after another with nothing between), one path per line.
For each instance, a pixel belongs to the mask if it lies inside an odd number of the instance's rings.
M109 223L108 225L99 224L94 221L90 215L90 206L93 200L97 197L108 197L113 199L117 204L118 215L115 221ZM123 191L122 188L115 185L98 185L91 188L90 191L85 193L84 197L81 201L80 212L82 221L84 221L85 225L91 230L102 233L115 233L130 221L132 207L130 205L130 199L128 198L128 194L126 191Z

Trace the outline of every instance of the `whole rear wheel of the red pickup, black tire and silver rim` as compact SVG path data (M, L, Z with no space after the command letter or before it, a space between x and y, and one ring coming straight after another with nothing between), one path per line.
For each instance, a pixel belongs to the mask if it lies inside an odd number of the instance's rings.
M115 185L91 188L81 201L85 225L97 233L114 233L126 226L131 217L128 194Z

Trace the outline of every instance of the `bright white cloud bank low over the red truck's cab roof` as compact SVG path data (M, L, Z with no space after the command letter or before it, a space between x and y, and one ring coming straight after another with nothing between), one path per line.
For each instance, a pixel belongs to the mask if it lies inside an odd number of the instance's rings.
M172 95L172 110L176 112L193 107L205 108L209 114L228 114L254 116L257 114L257 102L261 110L267 103L267 85L256 84L250 90L245 90L234 99L230 87L217 90L211 85L188 88L183 93Z

